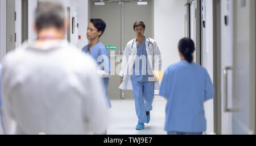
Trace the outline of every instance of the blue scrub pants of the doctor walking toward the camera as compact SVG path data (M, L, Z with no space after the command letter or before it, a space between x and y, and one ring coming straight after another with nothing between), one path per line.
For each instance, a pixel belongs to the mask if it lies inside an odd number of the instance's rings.
M152 110L154 99L154 82L132 82L135 110L139 123L147 123L146 111Z

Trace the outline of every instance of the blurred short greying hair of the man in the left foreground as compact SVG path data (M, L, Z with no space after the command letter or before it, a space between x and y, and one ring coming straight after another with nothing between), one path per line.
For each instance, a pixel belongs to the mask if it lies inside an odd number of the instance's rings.
M64 20L64 8L57 2L42 2L35 11L35 23L38 31L49 27L60 29L64 26Z

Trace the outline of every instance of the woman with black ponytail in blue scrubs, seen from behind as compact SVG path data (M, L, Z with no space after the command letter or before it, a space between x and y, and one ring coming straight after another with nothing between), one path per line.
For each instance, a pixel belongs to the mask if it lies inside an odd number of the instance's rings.
M193 62L195 44L179 41L181 61L164 73L159 95L167 99L164 130L168 135L201 135L206 131L204 102L214 96L214 87L205 68Z

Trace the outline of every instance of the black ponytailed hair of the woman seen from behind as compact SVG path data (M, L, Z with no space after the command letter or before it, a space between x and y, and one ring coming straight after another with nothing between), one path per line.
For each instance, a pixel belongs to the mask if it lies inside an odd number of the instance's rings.
M195 43L189 38L183 38L179 41L179 51L191 63L193 60L192 53L195 51Z

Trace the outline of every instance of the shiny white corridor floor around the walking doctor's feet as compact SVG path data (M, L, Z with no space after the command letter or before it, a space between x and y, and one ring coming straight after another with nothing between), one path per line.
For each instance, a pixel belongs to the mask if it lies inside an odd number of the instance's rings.
M151 111L150 123L145 124L144 130L135 130L138 118L135 112L134 100L112 100L110 109L111 122L108 135L166 135L164 118L166 99L156 96Z

